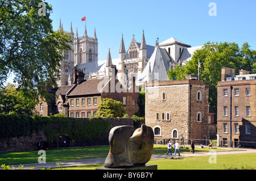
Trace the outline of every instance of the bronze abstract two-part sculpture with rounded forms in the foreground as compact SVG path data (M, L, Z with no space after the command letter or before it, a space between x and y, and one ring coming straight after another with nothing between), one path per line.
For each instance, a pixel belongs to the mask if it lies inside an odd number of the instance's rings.
M131 136L132 132L132 126L119 126L111 129L110 150L104 163L105 168L144 165L150 161L154 145L152 128L143 124Z

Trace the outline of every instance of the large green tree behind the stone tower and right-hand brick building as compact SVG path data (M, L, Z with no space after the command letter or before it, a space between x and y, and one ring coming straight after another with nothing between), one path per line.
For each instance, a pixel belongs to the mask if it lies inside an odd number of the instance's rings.
M228 67L239 70L256 70L256 51L251 50L247 43L241 48L236 43L206 43L196 50L190 61L184 66L176 66L168 70L170 80L185 79L187 74L198 74L200 60L200 80L209 85L209 105L217 112L217 82L221 81L221 68Z

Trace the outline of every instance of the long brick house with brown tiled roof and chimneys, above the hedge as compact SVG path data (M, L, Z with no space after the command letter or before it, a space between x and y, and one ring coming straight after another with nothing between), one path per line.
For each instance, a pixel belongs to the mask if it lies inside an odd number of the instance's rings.
M128 86L121 85L117 79L116 66L112 64L110 52L106 70L102 78L92 78L90 74L89 78L85 79L83 70L76 69L73 75L73 85L60 86L52 91L57 97L56 100L51 105L40 102L36 110L42 116L63 112L69 117L90 117L96 115L97 106L102 98L111 98L123 103L129 117L139 112L139 89L135 86L135 78L130 78Z

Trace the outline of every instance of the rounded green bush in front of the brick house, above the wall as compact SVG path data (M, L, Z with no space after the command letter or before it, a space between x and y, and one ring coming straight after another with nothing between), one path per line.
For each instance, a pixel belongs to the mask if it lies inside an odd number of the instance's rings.
M122 103L109 98L102 98L98 108L96 116L100 117L123 117L125 114Z

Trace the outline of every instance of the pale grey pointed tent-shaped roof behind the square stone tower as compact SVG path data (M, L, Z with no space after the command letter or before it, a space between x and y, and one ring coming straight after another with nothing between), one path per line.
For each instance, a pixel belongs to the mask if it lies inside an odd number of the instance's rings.
M170 69L170 57L167 56L166 50L156 46L150 60L144 68L139 81L147 81L148 72L152 73L152 80L157 79L158 81L168 81L167 71ZM151 70L149 70L151 68Z

